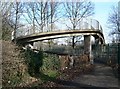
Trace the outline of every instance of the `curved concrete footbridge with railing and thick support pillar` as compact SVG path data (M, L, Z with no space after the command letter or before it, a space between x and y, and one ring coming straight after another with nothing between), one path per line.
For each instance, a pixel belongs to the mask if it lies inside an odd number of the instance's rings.
M103 30L101 25L97 20L83 20L79 23L76 29L41 29L33 31L29 28L19 28L16 30L15 38L17 43L25 45L29 43L34 43L37 41L72 37L72 36L84 36L84 54L87 54L89 57L92 55L92 44L91 36L95 38L98 43L105 44L105 39L103 35ZM90 58L91 59L91 58Z

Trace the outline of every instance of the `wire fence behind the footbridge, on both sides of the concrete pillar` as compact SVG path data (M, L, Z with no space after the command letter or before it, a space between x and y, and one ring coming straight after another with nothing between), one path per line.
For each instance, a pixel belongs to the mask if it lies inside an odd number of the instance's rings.
M49 45L38 43L37 49L55 53L55 54L68 54L79 56L84 53L84 45L78 45L74 49L68 45ZM95 61L113 64L120 64L120 43L111 43L105 45L92 45L92 55Z

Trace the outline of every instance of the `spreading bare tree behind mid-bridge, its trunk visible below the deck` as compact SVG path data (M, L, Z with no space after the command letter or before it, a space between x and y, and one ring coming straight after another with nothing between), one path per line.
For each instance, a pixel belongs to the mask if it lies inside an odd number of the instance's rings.
M67 26L70 30L75 30L83 18L94 14L94 4L88 0L82 0L78 2L66 2L64 3L65 14L72 26ZM72 37L72 47L75 46L75 36ZM78 39L78 38L77 38Z

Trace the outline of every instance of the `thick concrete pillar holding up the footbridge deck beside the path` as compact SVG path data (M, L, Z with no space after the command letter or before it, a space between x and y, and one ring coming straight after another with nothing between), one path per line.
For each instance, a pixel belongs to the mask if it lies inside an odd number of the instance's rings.
M93 64L91 35L84 35L84 54L88 55L90 63Z

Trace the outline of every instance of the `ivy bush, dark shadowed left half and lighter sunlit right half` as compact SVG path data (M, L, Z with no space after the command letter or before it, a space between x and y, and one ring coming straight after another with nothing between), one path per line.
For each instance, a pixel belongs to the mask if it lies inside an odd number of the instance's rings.
M60 68L60 61L57 55L43 53L42 51L34 52L27 49L25 59L28 65L28 73L33 77L48 75L56 77ZM42 76L44 77L44 76Z

